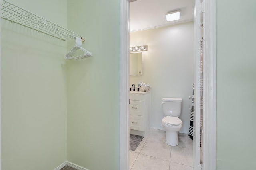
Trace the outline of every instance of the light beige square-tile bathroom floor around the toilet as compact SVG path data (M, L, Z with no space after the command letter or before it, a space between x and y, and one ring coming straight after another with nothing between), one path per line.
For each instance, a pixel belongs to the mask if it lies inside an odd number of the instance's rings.
M193 170L193 141L179 133L179 145L171 147L165 131L150 129L136 150L130 150L130 170Z

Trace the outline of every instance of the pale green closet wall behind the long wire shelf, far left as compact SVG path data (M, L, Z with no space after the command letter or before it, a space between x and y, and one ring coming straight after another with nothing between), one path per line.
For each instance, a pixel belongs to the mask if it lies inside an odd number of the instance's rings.
M67 27L66 0L10 0ZM66 161L67 43L2 20L2 170Z

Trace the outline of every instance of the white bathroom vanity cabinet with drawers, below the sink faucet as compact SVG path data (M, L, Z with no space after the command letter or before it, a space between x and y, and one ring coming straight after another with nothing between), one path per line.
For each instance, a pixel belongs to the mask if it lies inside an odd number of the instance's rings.
M130 133L144 136L150 129L150 92L130 92Z

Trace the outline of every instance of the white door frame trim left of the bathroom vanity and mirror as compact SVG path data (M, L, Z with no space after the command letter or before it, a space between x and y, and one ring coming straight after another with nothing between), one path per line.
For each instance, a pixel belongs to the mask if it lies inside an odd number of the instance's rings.
M120 159L119 170L129 170L129 0L120 0Z

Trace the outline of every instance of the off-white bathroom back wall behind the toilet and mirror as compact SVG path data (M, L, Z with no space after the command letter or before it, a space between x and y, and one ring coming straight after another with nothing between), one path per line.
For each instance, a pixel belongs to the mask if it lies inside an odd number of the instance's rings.
M130 76L131 84L151 86L151 128L163 129L161 100L182 98L181 133L188 133L193 87L193 23L130 33L130 46L148 45L142 53L142 76Z

